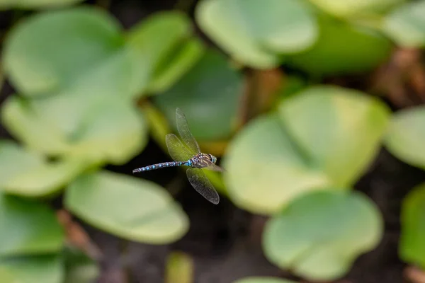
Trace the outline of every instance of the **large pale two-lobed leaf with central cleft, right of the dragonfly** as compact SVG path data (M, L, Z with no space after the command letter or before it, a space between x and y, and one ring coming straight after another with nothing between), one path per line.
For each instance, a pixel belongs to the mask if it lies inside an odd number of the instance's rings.
M278 212L320 187L351 187L380 148L389 110L363 93L316 86L277 114L252 121L222 161L229 197L254 213Z

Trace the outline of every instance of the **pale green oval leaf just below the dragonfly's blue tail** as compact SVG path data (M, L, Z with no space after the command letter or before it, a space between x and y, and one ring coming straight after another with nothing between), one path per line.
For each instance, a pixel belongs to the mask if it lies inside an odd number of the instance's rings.
M188 217L162 187L116 173L82 175L65 195L87 223L131 241L164 244L188 230Z

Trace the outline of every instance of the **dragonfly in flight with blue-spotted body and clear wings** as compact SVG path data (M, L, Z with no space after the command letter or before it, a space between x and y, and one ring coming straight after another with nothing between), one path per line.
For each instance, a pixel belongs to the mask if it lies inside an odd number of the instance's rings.
M133 170L132 173L152 171L166 167L188 166L186 175L189 183L206 200L213 204L218 204L220 197L203 170L208 169L223 172L224 169L215 164L217 162L215 156L212 154L203 154L200 151L198 142L189 130L186 116L180 108L176 109L176 124L181 139L175 134L167 134L165 137L166 146L174 161L140 167Z

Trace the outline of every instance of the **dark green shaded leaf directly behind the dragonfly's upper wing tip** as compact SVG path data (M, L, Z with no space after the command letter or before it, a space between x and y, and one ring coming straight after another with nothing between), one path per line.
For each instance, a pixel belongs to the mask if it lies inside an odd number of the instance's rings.
M155 96L154 103L173 129L179 107L196 139L225 139L232 133L242 88L241 74L231 69L221 54L208 50L176 85Z

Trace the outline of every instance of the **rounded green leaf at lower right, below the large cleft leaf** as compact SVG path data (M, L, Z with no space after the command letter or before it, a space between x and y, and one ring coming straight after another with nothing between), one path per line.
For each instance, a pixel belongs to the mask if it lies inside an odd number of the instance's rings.
M333 281L382 238L379 210L360 192L322 190L291 202L266 224L263 250L278 267L311 281Z

